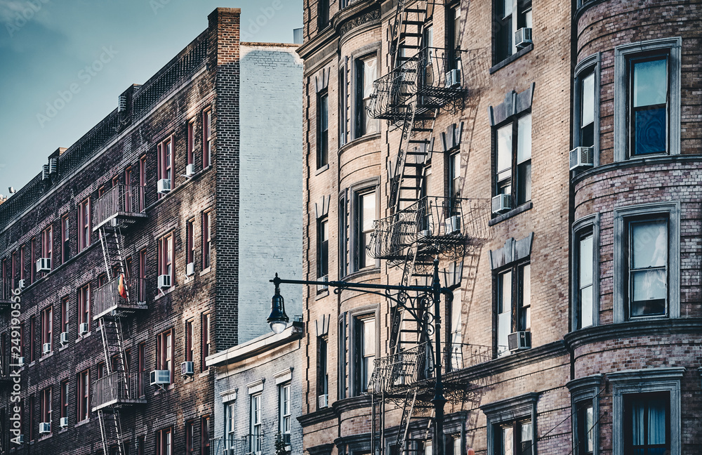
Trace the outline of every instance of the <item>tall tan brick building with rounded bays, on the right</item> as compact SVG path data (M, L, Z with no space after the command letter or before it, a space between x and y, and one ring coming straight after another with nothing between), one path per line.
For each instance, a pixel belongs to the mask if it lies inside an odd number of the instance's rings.
M310 454L698 452L701 8L305 1Z

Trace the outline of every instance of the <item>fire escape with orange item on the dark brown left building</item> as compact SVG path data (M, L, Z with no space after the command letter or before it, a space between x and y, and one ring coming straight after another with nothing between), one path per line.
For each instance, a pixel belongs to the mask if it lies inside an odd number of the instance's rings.
M144 283L126 270L122 234L123 227L145 218L143 197L143 187L115 185L95 203L93 230L100 235L106 282L93 294L91 312L100 329L105 374L92 384L92 403L105 454L125 455L120 410L145 403L139 381L133 381L128 371L122 333L122 318L146 308Z

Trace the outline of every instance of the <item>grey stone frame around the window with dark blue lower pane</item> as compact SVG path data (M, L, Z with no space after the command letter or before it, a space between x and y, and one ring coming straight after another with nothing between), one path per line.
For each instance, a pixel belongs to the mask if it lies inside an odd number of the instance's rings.
M651 39L614 48L614 161L646 159L651 156L680 154L682 38ZM647 55L668 55L667 153L633 155L630 153L630 60Z

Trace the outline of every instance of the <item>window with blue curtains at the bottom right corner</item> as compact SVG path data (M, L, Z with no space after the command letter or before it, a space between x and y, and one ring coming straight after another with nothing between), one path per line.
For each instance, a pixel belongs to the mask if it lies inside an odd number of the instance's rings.
M624 454L670 453L670 393L624 395Z

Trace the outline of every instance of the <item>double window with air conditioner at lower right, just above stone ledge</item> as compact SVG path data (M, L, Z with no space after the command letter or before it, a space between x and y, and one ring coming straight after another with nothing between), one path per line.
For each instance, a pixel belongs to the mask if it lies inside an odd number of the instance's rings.
M497 355L509 352L508 336L531 330L531 265L515 264L496 275Z

